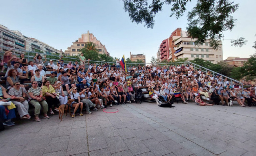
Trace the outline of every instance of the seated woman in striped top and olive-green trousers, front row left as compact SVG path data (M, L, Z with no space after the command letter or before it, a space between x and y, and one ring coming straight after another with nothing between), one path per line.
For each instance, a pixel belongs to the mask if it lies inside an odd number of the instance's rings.
M40 114L41 105L43 106L44 118L49 119L49 116L47 115L48 104L44 99L42 99L43 97L42 89L38 87L37 81L32 81L31 84L32 84L32 87L28 89L28 95L29 95L28 102L35 107L35 110L34 110L34 115L36 116L35 120L37 122L41 121L41 119L39 119L38 117Z

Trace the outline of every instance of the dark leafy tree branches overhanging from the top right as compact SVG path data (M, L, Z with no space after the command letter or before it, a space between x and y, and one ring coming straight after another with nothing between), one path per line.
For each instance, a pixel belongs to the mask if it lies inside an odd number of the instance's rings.
M164 5L171 5L170 17L178 19L186 11L186 5L191 0L122 0L125 12L129 13L132 22L144 23L147 28L153 28L154 18ZM195 7L188 12L188 35L197 38L195 45L200 45L206 40L214 49L219 48L219 40L224 39L223 32L231 31L236 19L232 13L238 9L239 4L229 0L197 0ZM244 38L235 40L233 45L242 46Z

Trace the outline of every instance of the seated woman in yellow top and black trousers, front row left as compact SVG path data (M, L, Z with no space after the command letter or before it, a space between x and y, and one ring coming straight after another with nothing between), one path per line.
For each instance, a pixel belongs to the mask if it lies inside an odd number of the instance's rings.
M46 102L48 104L48 110L50 111L50 114L53 115L54 112L52 111L52 104L54 104L54 111L59 112L57 110L58 103L60 103L59 99L56 97L56 93L54 88L50 85L50 82L48 80L45 80L43 82L42 87L43 97L46 98Z

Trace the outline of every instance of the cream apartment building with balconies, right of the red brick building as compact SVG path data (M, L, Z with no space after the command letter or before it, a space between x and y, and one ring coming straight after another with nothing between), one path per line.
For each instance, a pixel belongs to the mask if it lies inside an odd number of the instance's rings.
M212 63L218 63L223 61L222 42L220 42L220 48L213 49L210 47L209 42L205 42L201 45L195 45L196 39L191 39L187 36L186 31L182 31L181 37L173 40L174 43L174 56L178 58L188 58L188 61L195 58L202 58Z

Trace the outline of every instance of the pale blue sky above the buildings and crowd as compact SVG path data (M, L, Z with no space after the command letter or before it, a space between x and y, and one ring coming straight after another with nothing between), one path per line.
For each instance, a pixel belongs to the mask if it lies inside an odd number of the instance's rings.
M223 56L249 58L255 53L252 48L256 41L256 1L234 0L239 9L233 14L236 22L231 32L224 32L226 39L244 37L248 40L242 48L230 46L230 40L223 40ZM188 4L190 11L195 1ZM123 10L121 0L8 0L1 1L0 24L10 30L19 30L27 37L34 37L55 49L65 51L68 46L90 33L106 45L111 56L125 58L132 54L146 55L146 63L156 57L162 40L168 38L176 28L186 30L186 14L178 20L170 18L171 6L164 6L155 18L153 29L144 24L132 23Z

